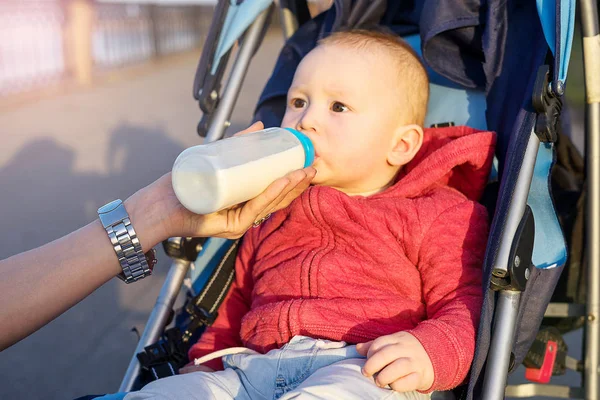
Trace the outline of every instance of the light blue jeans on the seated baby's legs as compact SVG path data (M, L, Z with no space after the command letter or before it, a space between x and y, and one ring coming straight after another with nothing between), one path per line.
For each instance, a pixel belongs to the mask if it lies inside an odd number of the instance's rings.
M126 400L147 399L429 399L418 392L378 387L361 373L356 346L296 336L267 354L223 357L225 369L193 372L152 382Z

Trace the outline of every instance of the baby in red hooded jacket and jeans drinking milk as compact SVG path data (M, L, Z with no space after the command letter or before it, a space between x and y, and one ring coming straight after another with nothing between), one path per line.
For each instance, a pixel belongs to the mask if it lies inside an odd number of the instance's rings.
M244 237L190 350L204 372L127 398L426 399L464 381L495 138L424 130L428 92L393 35L334 33L302 60L282 126L312 140L314 186Z

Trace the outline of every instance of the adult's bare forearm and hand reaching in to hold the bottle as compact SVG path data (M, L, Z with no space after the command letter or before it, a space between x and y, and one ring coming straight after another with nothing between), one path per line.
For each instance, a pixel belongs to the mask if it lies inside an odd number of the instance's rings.
M252 223L286 207L314 177L313 168L273 182L245 204L209 215L186 210L168 173L125 201L147 251L173 236L237 238ZM99 220L42 247L0 261L0 351L41 328L121 272Z

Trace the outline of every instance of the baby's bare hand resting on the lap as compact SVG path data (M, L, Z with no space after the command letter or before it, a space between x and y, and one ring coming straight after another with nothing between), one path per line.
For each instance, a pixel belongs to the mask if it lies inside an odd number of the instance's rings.
M380 387L389 385L397 392L411 392L428 390L433 384L431 360L421 342L410 333L381 336L356 345L356 349L367 357L363 374L379 373L375 383Z

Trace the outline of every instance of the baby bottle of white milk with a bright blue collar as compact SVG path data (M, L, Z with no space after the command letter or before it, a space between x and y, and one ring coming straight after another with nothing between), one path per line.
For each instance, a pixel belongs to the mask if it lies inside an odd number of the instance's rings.
M314 157L303 133L264 129L184 150L173 165L173 189L185 208L209 214L256 197Z

